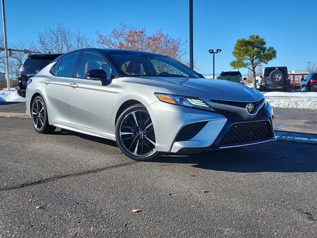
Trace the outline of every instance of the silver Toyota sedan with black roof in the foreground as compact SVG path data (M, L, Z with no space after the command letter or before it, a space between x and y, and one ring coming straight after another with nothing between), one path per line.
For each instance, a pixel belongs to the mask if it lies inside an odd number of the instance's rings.
M26 108L39 133L57 126L115 140L134 160L275 139L260 92L140 51L62 55L28 80Z

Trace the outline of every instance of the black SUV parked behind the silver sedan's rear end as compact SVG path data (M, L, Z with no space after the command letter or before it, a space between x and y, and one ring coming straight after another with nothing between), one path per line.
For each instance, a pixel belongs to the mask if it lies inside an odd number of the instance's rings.
M37 74L42 68L59 56L61 56L61 54L28 55L28 59L25 60L19 71L19 81L16 86L18 94L25 98L26 82L29 80L29 78Z

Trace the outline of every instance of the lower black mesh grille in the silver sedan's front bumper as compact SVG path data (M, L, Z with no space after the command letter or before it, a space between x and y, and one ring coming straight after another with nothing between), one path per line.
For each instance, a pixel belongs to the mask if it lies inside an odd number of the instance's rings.
M272 137L269 121L253 121L232 124L220 144L236 144Z

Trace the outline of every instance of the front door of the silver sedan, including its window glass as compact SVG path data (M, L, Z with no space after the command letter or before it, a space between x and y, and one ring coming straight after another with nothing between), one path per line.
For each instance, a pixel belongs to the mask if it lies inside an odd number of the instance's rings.
M100 80L87 79L92 69L104 69L110 84L103 86ZM95 52L85 52L82 56L77 77L70 83L69 112L70 123L82 127L113 133L111 113L113 89L112 70L106 60Z

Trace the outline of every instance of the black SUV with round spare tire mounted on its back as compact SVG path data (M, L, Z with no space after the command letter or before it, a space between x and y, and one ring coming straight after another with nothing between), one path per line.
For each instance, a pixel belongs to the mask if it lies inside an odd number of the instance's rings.
M263 68L260 91L264 92L270 88L280 88L284 92L291 91L290 80L288 78L286 66Z

